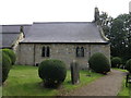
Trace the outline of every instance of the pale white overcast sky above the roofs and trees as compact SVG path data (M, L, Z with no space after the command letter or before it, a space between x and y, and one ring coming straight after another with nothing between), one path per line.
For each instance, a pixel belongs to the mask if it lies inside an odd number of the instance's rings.
M92 22L94 8L117 17L131 0L0 0L0 25L33 22Z

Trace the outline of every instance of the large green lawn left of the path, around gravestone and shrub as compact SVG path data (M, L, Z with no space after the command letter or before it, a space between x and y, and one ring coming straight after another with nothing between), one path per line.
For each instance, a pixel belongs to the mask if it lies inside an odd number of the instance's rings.
M41 79L38 77L38 68L27 65L14 65L9 74L9 78L2 88L3 96L57 96L86 85L102 74L91 73L92 76L86 76L87 71L80 72L80 84L71 84L70 71L68 71L67 78L59 89L49 89L40 86Z

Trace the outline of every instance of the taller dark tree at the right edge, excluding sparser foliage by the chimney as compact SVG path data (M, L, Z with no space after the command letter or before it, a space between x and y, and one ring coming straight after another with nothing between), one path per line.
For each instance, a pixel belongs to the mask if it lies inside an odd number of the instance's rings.
M131 14L121 14L110 29L111 54L124 60L131 58Z

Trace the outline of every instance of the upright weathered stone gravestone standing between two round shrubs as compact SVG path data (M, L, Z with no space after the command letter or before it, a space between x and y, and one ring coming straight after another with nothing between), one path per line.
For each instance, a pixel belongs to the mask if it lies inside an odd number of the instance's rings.
M72 84L80 83L79 64L74 61L71 63L71 82Z

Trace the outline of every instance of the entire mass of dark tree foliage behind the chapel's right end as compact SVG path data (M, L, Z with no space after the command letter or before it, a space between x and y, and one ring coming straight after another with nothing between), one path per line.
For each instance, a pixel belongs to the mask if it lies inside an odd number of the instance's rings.
M116 19L100 14L100 25L109 38L111 56L123 60L131 58L131 14L120 14Z

